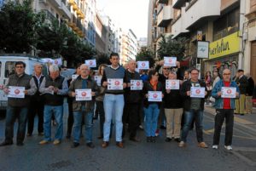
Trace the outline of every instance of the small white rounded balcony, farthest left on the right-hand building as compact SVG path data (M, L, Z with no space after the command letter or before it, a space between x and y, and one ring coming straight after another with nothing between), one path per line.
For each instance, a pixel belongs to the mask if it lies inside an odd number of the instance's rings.
M172 6L164 6L164 8L160 11L160 14L157 15L157 26L166 27L168 26L173 19L173 10Z

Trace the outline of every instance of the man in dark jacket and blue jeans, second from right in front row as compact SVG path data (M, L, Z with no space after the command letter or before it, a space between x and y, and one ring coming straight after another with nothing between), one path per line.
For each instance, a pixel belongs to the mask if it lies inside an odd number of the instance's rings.
M189 134L189 128L195 117L195 131L198 146L201 148L207 148L207 144L203 141L203 111L204 111L204 98L190 97L191 87L201 87L205 89L205 96L207 95L207 85L203 81L198 79L199 71L193 68L190 71L191 78L185 81L181 88L181 94L183 96L183 115L184 115L184 126L181 136L181 142L179 147L186 146L187 136Z

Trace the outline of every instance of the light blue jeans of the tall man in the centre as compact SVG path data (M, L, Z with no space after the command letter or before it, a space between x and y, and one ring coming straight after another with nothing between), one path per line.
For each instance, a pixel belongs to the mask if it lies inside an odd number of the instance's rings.
M124 110L124 95L123 94L105 94L104 97L104 111L105 111L105 123L104 123L104 141L109 141L110 127L112 121L112 115L115 116L115 140L122 141L123 132L123 110Z

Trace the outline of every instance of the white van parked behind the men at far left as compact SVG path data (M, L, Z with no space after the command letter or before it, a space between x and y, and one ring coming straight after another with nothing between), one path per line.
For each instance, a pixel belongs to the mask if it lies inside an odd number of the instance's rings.
M15 73L15 62L22 61L26 64L26 74L32 75L34 72L35 64L43 64L43 60L30 57L26 55L1 55L0 54L0 85L6 83L9 75ZM43 65L43 73L47 74L47 66ZM3 93L3 90L0 90L0 110L5 110L7 107L7 95ZM4 113L4 111L1 111Z

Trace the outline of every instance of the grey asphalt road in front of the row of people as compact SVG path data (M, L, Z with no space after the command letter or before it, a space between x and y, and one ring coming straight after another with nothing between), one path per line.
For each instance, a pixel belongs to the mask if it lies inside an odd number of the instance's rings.
M204 117L204 139L212 145L212 109L207 109ZM238 121L237 121L238 119ZM67 116L64 118L65 126ZM188 145L177 147L177 142L165 142L165 130L160 130L156 143L147 143L142 130L138 136L142 142L131 142L125 137L125 148L118 148L114 139L106 149L102 149L99 125L94 125L94 143L90 149L81 145L72 149L72 140L64 139L61 145L38 145L42 140L37 134L26 138L24 146L0 147L0 171L249 171L256 170L256 115L237 116L234 128L233 151L224 149L224 135L218 150L197 147L195 130L189 132ZM53 131L55 127L53 128ZM64 127L64 133L66 133ZM224 133L224 130L223 130ZM127 135L128 136L128 135ZM0 121L0 140L4 139L4 120Z

